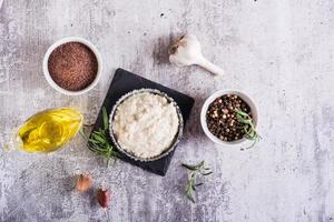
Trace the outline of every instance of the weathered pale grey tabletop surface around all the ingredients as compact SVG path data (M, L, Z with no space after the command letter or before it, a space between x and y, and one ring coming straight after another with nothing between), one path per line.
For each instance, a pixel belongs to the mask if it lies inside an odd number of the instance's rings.
M0 0L1 1L1 0ZM0 143L37 111L81 110L94 122L116 68L196 98L165 178L124 162L106 169L78 137L49 155L0 150L0 221L107 221L88 171L109 186L110 221L334 221L334 1L332 0L3 0L0 9ZM168 63L167 46L191 32L226 70L214 79ZM41 60L56 40L78 36L100 50L105 72L82 97L52 90ZM199 110L210 93L235 88L258 105L262 142L248 151L205 138ZM206 160L214 176L184 195L181 161Z

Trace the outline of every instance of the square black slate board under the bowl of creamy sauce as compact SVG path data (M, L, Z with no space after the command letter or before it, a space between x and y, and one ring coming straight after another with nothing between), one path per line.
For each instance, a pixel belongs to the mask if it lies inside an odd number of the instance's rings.
M161 92L167 93L169 97L171 97L178 107L180 108L183 118L184 118L184 123L186 124L190 110L194 105L194 99L183 94L176 90L169 89L167 87L164 87L161 84L158 84L156 82L153 82L150 80L147 80L143 77L139 77L137 74L134 74L131 72L128 72L124 69L117 69L114 75L114 79L111 81L111 84L109 87L109 90L107 92L107 95L105 98L105 101L102 103L102 107L107 109L108 114L111 112L111 109L114 104L117 102L117 100L126 94L127 92L130 92L136 89L143 89L143 88L150 88L150 89L157 89ZM102 107L99 111L99 115L97 118L97 121L94 125L92 130L98 130L99 128L102 128L104 125L104 120L102 120ZM111 142L111 139L110 139ZM147 171L150 171L153 173L159 174L159 175L165 175L167 172L167 169L169 167L170 160L174 155L174 151L170 152L168 155L156 160L156 161L150 161L150 162L141 162L141 161L136 161L127 155L121 154L121 160L129 162L134 165L138 165Z

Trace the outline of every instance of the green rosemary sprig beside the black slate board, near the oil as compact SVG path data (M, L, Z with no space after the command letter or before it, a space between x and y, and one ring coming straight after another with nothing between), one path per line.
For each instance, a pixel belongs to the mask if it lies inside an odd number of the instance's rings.
M109 165L110 159L118 159L120 157L119 152L114 150L109 138L108 138L108 114L107 110L102 108L102 118L104 118L104 129L98 129L91 132L90 137L87 137L86 133L80 131L80 134L88 141L88 149L95 152L97 155L107 158L107 165Z

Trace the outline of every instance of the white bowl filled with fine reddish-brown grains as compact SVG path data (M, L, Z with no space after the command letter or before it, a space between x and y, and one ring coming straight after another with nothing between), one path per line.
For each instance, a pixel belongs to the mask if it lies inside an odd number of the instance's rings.
M55 42L43 58L43 74L57 91L78 95L91 90L102 73L102 60L97 48L77 37Z

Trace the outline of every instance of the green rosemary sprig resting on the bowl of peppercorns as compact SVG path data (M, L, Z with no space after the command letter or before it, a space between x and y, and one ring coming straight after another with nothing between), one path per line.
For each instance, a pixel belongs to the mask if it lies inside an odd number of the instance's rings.
M255 145L255 143L259 141L261 135L256 131L253 119L246 112L242 110L236 110L235 112L236 112L237 121L243 124L243 129L245 131L244 137L247 140L253 141L252 145L246 148L246 149L250 149Z

